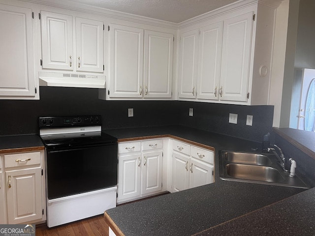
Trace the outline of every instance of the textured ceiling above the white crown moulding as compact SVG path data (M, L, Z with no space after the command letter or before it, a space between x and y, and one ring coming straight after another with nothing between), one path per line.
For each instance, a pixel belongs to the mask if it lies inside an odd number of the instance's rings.
M238 0L69 0L115 11L181 23Z

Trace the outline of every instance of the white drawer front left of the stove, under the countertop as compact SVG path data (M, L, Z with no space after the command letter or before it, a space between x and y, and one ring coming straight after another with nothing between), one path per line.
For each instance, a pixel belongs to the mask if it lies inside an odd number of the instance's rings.
M30 166L40 164L40 152L27 152L4 155L4 167Z

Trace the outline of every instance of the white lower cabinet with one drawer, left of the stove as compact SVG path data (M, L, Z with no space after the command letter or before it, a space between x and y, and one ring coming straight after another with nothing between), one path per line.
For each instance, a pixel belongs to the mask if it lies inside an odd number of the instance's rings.
M44 150L0 155L4 175L0 176L0 224L35 223L46 220ZM5 182L1 180L5 179Z

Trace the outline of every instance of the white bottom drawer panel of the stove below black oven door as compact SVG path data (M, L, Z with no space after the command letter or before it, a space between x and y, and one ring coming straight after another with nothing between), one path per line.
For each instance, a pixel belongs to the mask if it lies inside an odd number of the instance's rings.
M47 199L47 226L54 227L103 214L116 207L117 187L100 189L58 199Z

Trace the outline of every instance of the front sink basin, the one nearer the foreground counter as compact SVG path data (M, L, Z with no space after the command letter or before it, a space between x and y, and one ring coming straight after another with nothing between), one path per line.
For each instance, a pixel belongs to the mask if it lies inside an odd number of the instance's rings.
M269 166L255 166L242 164L227 164L226 172L229 176L241 179L251 179L267 182L284 181L280 172Z

